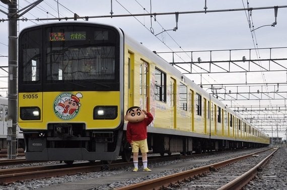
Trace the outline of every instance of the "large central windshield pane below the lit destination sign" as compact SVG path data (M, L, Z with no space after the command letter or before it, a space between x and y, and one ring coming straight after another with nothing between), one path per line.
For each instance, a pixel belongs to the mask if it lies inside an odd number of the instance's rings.
M114 79L115 47L47 47L47 80ZM33 66L33 65L32 65Z

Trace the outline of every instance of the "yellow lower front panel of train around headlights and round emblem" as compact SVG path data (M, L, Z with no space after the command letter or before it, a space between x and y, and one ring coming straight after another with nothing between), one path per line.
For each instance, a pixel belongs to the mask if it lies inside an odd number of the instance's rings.
M56 107L61 101L65 101L79 91L71 92L25 92L19 93L19 105L21 107L40 108L41 120L22 120L19 116L18 123L22 129L46 130L50 121L53 123L85 123L86 129L114 129L120 124L121 115L113 120L94 120L93 110L96 106L117 106L120 113L120 95L118 91L81 91L80 106L74 113L60 114ZM23 98L23 97L37 98ZM44 100L44 101L43 101Z

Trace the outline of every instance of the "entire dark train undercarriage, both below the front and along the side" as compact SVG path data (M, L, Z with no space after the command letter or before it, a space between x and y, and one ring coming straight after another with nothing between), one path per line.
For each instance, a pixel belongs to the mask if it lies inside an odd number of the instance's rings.
M102 160L110 163L121 156L130 161L131 147L125 131L85 130L83 124L50 124L45 131L24 131L27 160L59 160L71 164L74 160ZM171 155L175 152L199 154L211 151L261 147L264 144L211 138L148 134L152 153Z

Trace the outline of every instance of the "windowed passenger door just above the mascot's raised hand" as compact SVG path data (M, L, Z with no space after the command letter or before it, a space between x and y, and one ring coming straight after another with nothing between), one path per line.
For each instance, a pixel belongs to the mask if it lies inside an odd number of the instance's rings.
M150 81L150 75L149 75L149 63L146 61L142 61L142 64L139 65L139 75L140 75L140 81L139 81L139 94L142 99L142 109L145 109L146 111L150 111L150 104L149 104L149 81Z

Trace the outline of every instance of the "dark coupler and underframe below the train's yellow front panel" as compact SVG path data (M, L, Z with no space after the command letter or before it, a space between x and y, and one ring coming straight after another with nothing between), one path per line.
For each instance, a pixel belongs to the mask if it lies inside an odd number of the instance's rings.
M23 131L27 160L73 163L74 160L116 160L122 129L85 130L83 124L49 124L48 130Z

